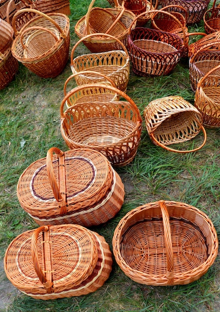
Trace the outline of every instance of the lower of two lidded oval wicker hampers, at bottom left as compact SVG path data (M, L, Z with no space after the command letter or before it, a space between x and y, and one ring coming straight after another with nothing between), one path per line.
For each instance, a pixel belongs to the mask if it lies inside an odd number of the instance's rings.
M111 266L104 237L73 224L26 231L10 243L4 257L9 281L42 300L95 292L109 278Z

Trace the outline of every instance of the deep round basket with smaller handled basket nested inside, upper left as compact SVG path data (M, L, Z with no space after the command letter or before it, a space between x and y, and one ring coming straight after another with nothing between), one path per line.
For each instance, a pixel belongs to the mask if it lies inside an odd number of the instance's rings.
M17 31L16 16L26 11L37 15ZM11 51L19 62L41 78L54 78L63 71L70 46L68 16L61 13L46 15L30 8L21 9L14 14L12 27L16 37Z

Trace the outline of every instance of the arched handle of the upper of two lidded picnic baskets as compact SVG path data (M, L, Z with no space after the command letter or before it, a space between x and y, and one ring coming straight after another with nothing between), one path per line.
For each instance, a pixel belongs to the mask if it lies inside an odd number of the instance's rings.
M54 193L54 197L60 207L60 215L64 215L67 213L66 193L64 193L63 194L64 196L62 196L56 182L56 178L53 171L53 153L55 153L57 157L60 158L60 160L62 160L62 158L64 159L64 152L62 152L58 148L51 148L48 150L46 157L47 174L50 181L50 185ZM62 164L60 164L60 166L62 169ZM60 181L62 182L62 176L60 177Z

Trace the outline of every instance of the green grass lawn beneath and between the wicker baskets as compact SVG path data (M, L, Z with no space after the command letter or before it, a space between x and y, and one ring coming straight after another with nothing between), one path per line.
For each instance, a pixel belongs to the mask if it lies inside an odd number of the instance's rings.
M87 12L90 0L71 0L71 46L77 37L75 23ZM96 6L108 6L97 0ZM203 22L189 27L203 31ZM195 38L194 38L195 39ZM193 40L193 38L191 39ZM87 53L82 44L77 53ZM68 148L60 133L59 107L63 86L72 74L70 59L62 74L42 79L19 64L15 79L0 91L0 259L18 234L37 227L20 207L16 185L20 174L33 161L45 157L49 148ZM72 82L72 87L76 86ZM180 95L194 103L190 88L187 60L182 60L168 76L138 77L130 72L127 94L137 104L142 118L147 104L169 95ZM182 201L204 211L213 221L220 237L220 130L206 129L207 143L196 153L179 154L152 144L144 118L141 142L134 160L118 167L125 187L125 200L119 213L107 224L91 228L103 235L112 250L113 231L119 220L131 209L160 199ZM176 146L192 149L203 141L195 139ZM10 284L0 271L5 290ZM1 292L1 289L0 289ZM124 275L113 258L109 280L87 296L34 300L15 292L8 294L7 308L1 312L218 312L220 311L220 259L198 281L174 287L138 284Z

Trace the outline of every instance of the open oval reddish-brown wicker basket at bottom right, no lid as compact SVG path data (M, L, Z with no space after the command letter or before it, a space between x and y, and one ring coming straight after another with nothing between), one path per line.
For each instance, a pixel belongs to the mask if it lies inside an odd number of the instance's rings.
M208 216L186 203L156 201L129 211L112 240L121 270L153 286L198 280L218 254L216 229Z

